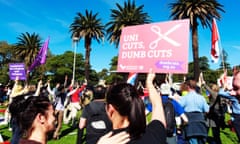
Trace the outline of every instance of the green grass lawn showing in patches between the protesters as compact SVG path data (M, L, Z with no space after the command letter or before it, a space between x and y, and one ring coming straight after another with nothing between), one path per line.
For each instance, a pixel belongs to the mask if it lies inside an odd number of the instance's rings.
M0 107L1 108L1 107ZM78 117L80 116L80 112ZM147 121L150 120L150 116L147 116ZM226 122L229 120L230 116L226 114ZM0 133L5 141L11 139L11 131L8 130L8 126L0 126ZM212 138L211 129L209 131L209 138ZM63 124L61 129L61 135L59 140L49 140L48 144L75 144L77 140L77 128L72 128L69 125ZM221 140L223 144L237 144L237 136L229 128L221 130ZM207 143L208 144L208 143Z

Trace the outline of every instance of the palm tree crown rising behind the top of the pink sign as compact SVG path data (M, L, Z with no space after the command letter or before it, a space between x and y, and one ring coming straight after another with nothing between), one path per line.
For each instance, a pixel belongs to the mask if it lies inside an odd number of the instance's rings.
M106 24L107 39L110 43L114 43L116 47L119 45L121 31L126 26L145 24L150 22L150 17L143 12L144 5L136 6L135 1L124 2L122 7L116 3L117 10L111 10L111 20Z

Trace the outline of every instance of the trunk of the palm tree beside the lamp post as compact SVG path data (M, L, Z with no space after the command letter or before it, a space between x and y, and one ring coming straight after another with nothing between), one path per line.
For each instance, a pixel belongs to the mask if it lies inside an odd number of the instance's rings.
M85 78L89 81L89 69L90 69L90 52L91 52L91 38L85 39Z

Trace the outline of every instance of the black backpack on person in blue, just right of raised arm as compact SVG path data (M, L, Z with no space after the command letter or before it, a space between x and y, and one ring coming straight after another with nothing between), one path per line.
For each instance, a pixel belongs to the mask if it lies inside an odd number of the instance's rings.
M167 136L171 137L176 129L175 110L172 100L168 98L167 102L163 103L165 119L166 119L166 131Z

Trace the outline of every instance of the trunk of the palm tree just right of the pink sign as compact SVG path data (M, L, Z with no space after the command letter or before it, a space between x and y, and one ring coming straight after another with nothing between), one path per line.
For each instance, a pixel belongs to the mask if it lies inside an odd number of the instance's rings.
M193 63L194 63L194 79L198 81L200 69L198 59L198 24L197 19L194 18L192 26L192 51L193 51Z

